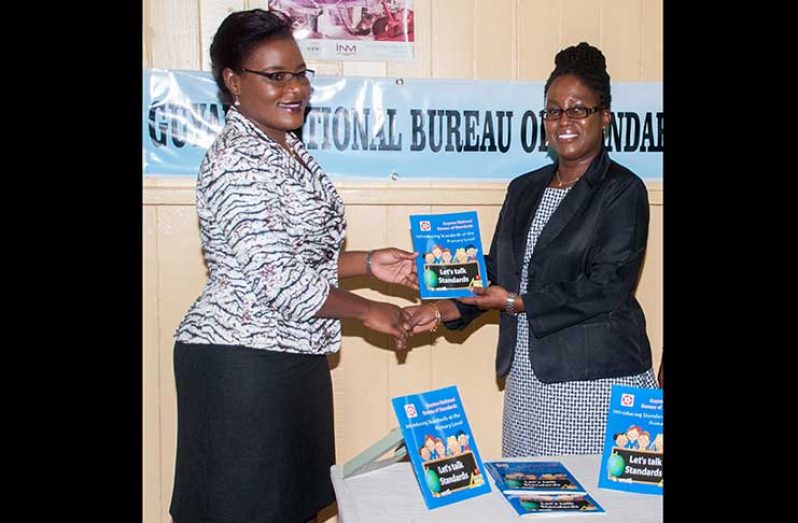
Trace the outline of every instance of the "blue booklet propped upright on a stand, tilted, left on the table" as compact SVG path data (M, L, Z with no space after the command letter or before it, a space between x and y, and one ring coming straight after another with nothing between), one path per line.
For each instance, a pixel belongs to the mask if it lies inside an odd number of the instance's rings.
M399 396L391 403L428 509L490 492L456 386Z

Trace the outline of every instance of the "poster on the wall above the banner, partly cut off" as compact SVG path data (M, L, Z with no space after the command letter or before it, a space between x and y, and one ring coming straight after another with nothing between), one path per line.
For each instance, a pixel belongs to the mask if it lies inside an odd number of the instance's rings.
M308 60L413 60L413 0L269 0Z

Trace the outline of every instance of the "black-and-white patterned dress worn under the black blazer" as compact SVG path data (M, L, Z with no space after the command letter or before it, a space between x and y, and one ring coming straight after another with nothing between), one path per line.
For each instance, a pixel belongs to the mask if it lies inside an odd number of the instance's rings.
M543 227L570 187L547 187L529 228L521 292L527 292L527 268ZM529 322L518 314L518 336L510 375L504 392L502 455L557 456L598 454L604 444L607 409L613 384L654 388L653 371L635 376L590 381L543 383L529 362ZM532 350L535 350L534 345Z

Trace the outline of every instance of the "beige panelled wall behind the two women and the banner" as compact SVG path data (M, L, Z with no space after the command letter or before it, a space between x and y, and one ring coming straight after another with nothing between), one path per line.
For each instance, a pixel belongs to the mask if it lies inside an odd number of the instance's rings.
M604 51L613 81L661 81L661 0L414 0L416 58L386 62L310 62L320 74L545 80L554 54L587 40ZM145 0L144 67L208 70L207 49L219 22L261 1ZM520 173L519 173L520 174ZM662 347L661 183L649 183L651 224L637 296L648 320L655 366ZM346 204L347 249L410 249L408 215L476 209L488 244L505 183L337 183ZM445 201L441 206L434 202ZM143 521L169 523L176 400L172 334L200 292L206 269L193 206L192 179L143 182ZM412 294L387 286L348 288L399 304ZM344 342L330 358L337 459L346 461L396 422L390 398L456 384L485 458L501 452L502 392L493 372L497 339L491 316L464 333L419 337L394 353L388 339L344 322ZM440 333L439 333L440 334ZM330 521L335 520L331 515Z

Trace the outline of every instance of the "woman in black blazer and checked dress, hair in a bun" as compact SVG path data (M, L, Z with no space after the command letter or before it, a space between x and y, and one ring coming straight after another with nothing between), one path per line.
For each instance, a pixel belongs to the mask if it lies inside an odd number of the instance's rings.
M604 55L560 51L544 89L553 165L515 178L474 298L409 308L414 332L462 329L499 309L496 372L507 377L504 456L594 454L613 384L656 387L634 297L648 237L643 181L603 146L610 123Z

